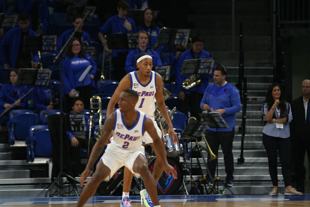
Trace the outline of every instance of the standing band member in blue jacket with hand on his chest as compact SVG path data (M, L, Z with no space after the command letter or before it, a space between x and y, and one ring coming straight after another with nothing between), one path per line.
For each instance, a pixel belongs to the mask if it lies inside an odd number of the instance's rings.
M125 0L121 0L117 4L118 14L109 18L98 33L98 37L102 43L104 43L105 34L113 33L133 33L137 32L135 21L127 17L127 12L129 10L129 3ZM125 62L126 56L131 49L118 49L109 50L106 47L106 51L112 52L112 64L114 67L114 79L121 81L121 79L126 75L125 72Z

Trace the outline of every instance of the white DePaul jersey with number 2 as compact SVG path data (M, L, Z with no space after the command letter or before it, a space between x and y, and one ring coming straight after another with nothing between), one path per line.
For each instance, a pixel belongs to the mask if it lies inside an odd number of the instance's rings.
M137 110L137 112L137 122L131 128L127 128L123 113L118 109L115 110L114 127L112 130L113 142L111 142L113 146L129 151L138 151L141 149L146 115L141 111Z

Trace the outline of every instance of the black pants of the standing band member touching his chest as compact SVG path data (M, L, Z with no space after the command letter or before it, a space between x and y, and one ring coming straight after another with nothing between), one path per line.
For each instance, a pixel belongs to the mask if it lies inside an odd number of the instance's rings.
M128 52L117 52L117 56L112 57L115 80L121 81L122 78L126 75L125 64L127 55ZM135 67L135 65L133 65L132 67Z

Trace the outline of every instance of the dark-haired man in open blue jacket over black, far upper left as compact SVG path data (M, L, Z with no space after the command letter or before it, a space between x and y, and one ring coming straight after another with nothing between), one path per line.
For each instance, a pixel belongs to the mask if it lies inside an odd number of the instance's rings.
M38 52L33 53L33 59L30 52L24 52L24 36L37 35L29 29L29 16L26 13L18 15L19 27L7 31L0 44L1 64L7 68L38 68Z

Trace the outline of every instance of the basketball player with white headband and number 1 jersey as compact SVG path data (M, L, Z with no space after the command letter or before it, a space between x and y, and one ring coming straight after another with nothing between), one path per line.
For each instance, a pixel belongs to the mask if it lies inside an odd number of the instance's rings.
M107 116L113 112L114 106L118 101L119 94L124 89L131 88L132 90L135 90L139 95L139 101L136 104L135 109L143 111L150 119L152 119L154 127L157 130L158 136L162 137L162 132L158 128L157 123L153 117L155 111L155 101L154 101L155 97L158 109L169 126L168 133L170 135L171 134L173 135L173 143L177 143L177 137L171 124L163 98L162 77L156 72L152 71L153 68L152 57L149 56L148 53L139 53L136 58L136 66L138 67L139 70L127 74L118 84L118 87L116 88L115 92L113 93L113 96L109 101L107 107ZM156 154L157 148L156 146L154 146L154 143L151 137L148 135L148 133L144 134L143 141L146 144L150 144ZM162 142L163 143L165 142L163 137ZM165 152L165 157L166 155L167 153ZM161 160L156 159L153 171L153 177L155 178L156 183L158 182L160 176L162 175L162 172L163 172L163 165L161 163ZM131 186L132 177L133 175L130 172L130 170L126 169L125 167L122 200L124 200L125 197L129 198L129 190ZM152 201L147 191L144 189L140 192L140 194L144 200L144 205L146 205L147 207L153 207ZM130 202L130 200L128 202ZM121 207L122 206L125 205L122 205L121 202Z

